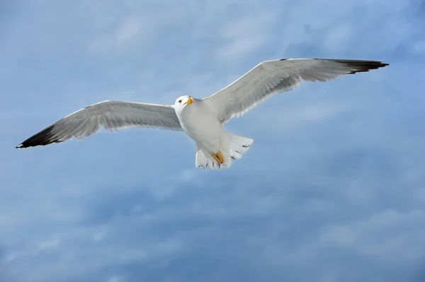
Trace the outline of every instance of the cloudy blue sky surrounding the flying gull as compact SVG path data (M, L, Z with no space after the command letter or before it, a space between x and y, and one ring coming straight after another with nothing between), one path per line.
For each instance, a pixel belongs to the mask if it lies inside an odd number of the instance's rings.
M424 281L420 1L8 1L0 281ZM101 100L204 97L267 59L375 59L232 119L231 169L184 134L17 150Z

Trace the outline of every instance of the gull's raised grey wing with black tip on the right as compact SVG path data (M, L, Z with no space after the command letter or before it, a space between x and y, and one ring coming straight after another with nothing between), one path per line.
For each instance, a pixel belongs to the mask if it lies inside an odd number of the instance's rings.
M244 76L203 101L225 124L271 96L292 90L305 81L328 81L345 74L387 66L382 61L349 59L278 59L263 61Z

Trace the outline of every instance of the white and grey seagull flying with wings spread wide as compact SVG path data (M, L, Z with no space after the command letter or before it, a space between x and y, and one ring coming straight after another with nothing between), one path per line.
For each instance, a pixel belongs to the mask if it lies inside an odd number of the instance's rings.
M382 61L356 59L273 59L253 69L208 98L183 95L174 105L105 100L63 117L23 141L16 148L45 146L91 136L101 127L109 131L155 128L183 131L196 142L196 168L229 168L242 158L254 139L229 133L223 126L301 81L329 81L387 66Z

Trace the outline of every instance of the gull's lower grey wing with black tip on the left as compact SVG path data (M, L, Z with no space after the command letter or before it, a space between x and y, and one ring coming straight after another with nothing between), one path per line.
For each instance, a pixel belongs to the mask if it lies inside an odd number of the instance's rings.
M171 105L107 100L67 115L26 139L16 148L45 146L72 137L81 139L91 136L101 127L110 131L129 127L183 130Z

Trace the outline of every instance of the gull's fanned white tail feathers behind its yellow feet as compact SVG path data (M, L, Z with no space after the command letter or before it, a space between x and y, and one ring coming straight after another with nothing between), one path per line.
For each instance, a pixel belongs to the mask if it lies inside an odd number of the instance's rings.
M222 148L218 152L217 159L222 158L222 163L219 163L216 158L214 158L211 153L204 152L200 148L196 151L195 165L196 168L205 168L205 169L219 169L219 168L229 168L232 165L233 160L239 160L242 158L242 155L249 150L249 146L254 142L254 139L246 138L243 136L231 134L227 132L227 137L229 140L229 146ZM221 156L220 156L221 155Z

